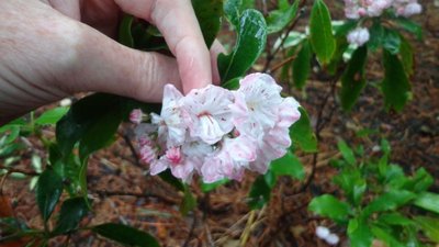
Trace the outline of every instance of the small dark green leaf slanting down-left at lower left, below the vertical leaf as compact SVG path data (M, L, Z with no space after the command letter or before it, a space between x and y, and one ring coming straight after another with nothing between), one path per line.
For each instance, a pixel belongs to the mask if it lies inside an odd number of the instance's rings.
M61 205L59 218L53 234L66 234L76 229L82 217L87 215L88 211L88 203L83 198L66 200Z

